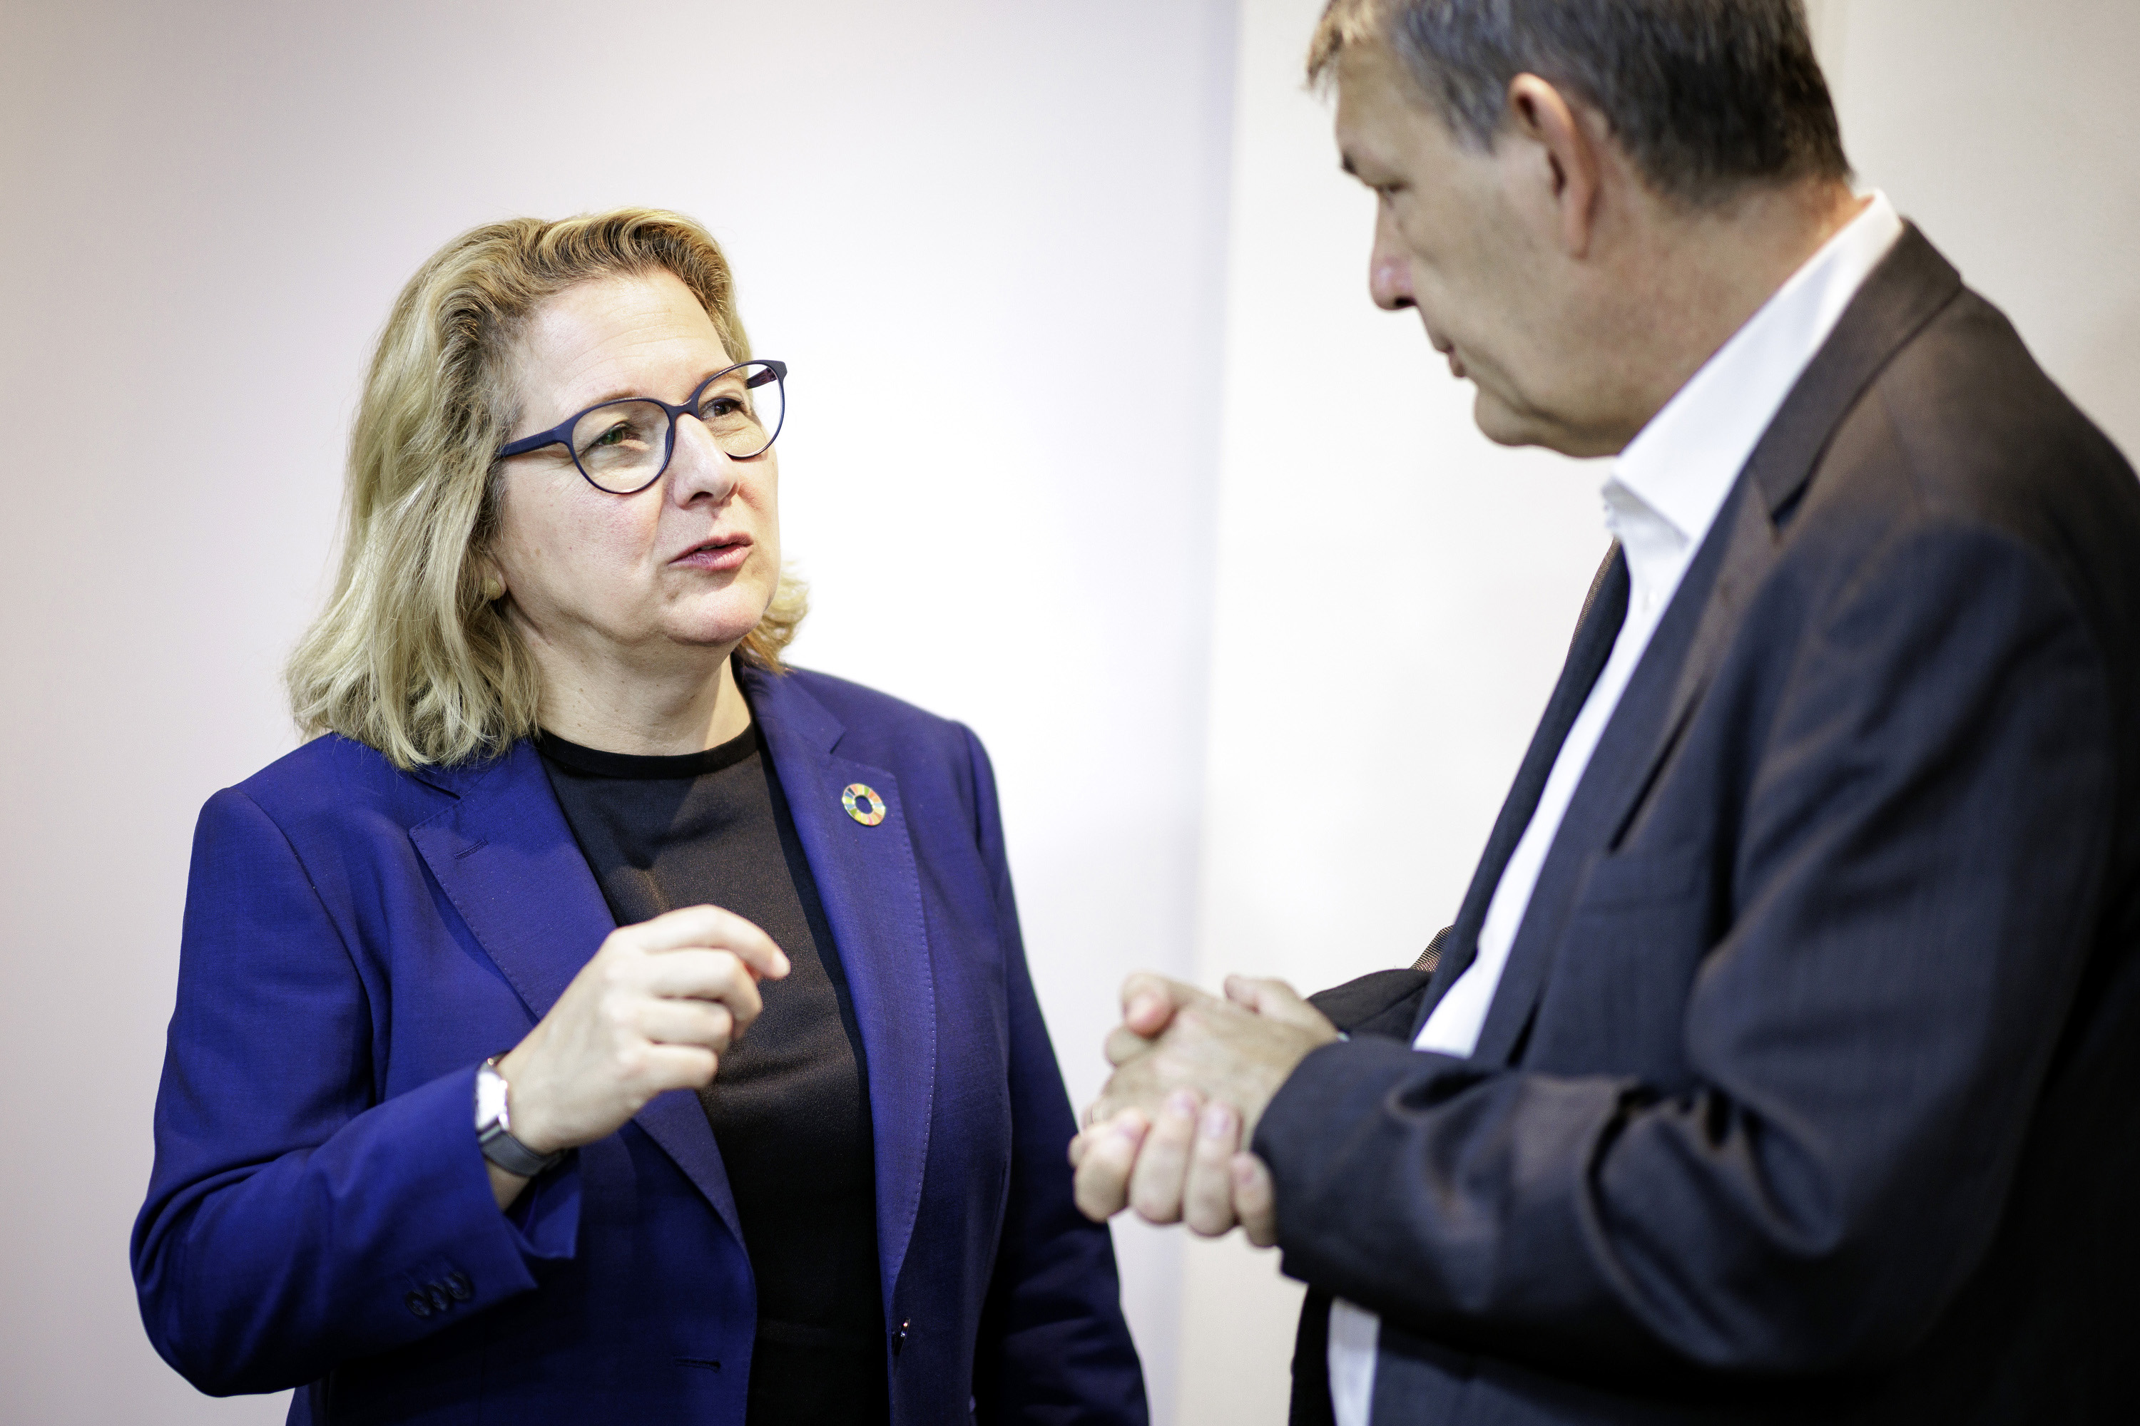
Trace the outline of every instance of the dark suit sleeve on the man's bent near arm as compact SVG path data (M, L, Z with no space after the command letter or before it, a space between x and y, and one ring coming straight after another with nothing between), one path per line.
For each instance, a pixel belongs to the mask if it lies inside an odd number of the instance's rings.
M1286 1272L1549 1368L1922 1336L1988 1249L2099 924L2106 663L2039 556L1926 522L1828 594L1774 710L1693 1086L1327 1045L1256 1131Z

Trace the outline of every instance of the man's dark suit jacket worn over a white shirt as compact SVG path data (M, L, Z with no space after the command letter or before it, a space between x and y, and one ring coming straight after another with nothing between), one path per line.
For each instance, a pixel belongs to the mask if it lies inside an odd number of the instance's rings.
M1472 1058L1406 1043L1626 607L1618 562L1432 979L1256 1131L1327 1420L2140 1420L2140 485L1909 229L1746 464Z

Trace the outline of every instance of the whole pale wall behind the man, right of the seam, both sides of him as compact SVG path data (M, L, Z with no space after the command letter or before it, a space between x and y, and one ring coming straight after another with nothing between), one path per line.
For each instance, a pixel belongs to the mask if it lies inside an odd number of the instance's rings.
M1243 0L1198 973L1408 964L1455 913L1605 549L1596 468L1502 451L1410 316L1367 304L1372 201L1301 92L1320 0ZM1825 0L1864 182L2140 451L2129 0ZM1314 421L1280 374L1312 372ZM1181 1426L1286 1415L1299 1287L1188 1253Z

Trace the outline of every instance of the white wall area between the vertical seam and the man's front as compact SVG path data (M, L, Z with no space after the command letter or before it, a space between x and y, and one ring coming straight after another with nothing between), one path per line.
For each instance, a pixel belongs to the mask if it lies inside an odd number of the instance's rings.
M1415 314L1367 299L1374 199L1245 0L1196 960L1303 990L1410 964L1464 896L1605 552L1594 477L1489 445ZM1299 1287L1192 1244L1179 1422L1284 1422Z

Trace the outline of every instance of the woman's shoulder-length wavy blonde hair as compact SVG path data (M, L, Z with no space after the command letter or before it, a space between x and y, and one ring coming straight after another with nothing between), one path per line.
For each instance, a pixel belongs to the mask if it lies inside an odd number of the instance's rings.
M477 560L496 534L496 449L518 410L516 338L550 295L608 274L672 272L698 295L730 361L751 355L734 278L698 222L623 207L462 233L409 280L379 336L349 436L349 507L334 599L291 654L291 712L398 768L503 753L535 731L535 663ZM781 671L807 609L781 575L736 650Z

